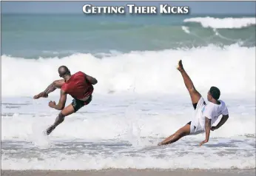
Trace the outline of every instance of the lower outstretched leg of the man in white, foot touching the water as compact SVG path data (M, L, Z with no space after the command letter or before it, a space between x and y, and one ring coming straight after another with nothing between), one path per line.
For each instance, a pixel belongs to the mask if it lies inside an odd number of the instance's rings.
M166 138L161 143L158 143L158 146L167 145L169 143L175 143L179 139L181 139L184 136L189 135L189 134L190 134L190 125L186 124L181 129L179 129L177 132L175 132L175 134L169 136L168 138Z

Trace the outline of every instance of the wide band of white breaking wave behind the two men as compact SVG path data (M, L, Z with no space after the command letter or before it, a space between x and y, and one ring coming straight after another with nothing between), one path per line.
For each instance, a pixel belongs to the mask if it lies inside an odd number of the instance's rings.
M191 50L161 50L102 55L87 53L64 58L1 57L1 95L27 96L45 89L59 79L58 67L67 65L98 79L95 92L186 93L183 80L175 69L179 59L200 91L210 86L223 93L255 92L255 47L200 47Z

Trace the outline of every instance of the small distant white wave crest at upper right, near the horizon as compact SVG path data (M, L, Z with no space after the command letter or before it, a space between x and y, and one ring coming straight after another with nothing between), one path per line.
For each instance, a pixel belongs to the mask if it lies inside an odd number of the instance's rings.
M215 29L235 29L244 28L256 24L256 18L213 18L213 17L198 17L186 18L184 22L200 23L203 27L211 27Z

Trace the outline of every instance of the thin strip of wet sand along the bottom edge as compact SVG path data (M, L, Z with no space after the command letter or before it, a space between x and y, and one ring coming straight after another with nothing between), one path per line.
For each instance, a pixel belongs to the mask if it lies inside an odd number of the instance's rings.
M53 171L53 170L2 170L2 176L251 176L255 175L255 169L251 170L168 170L168 169L104 169L92 171Z

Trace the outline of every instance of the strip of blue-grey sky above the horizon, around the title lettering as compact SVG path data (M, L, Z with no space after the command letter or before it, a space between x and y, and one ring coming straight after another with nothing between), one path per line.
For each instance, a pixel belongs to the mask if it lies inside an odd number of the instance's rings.
M83 13L93 5L189 6L190 14L255 14L255 1L1 1L1 13Z

